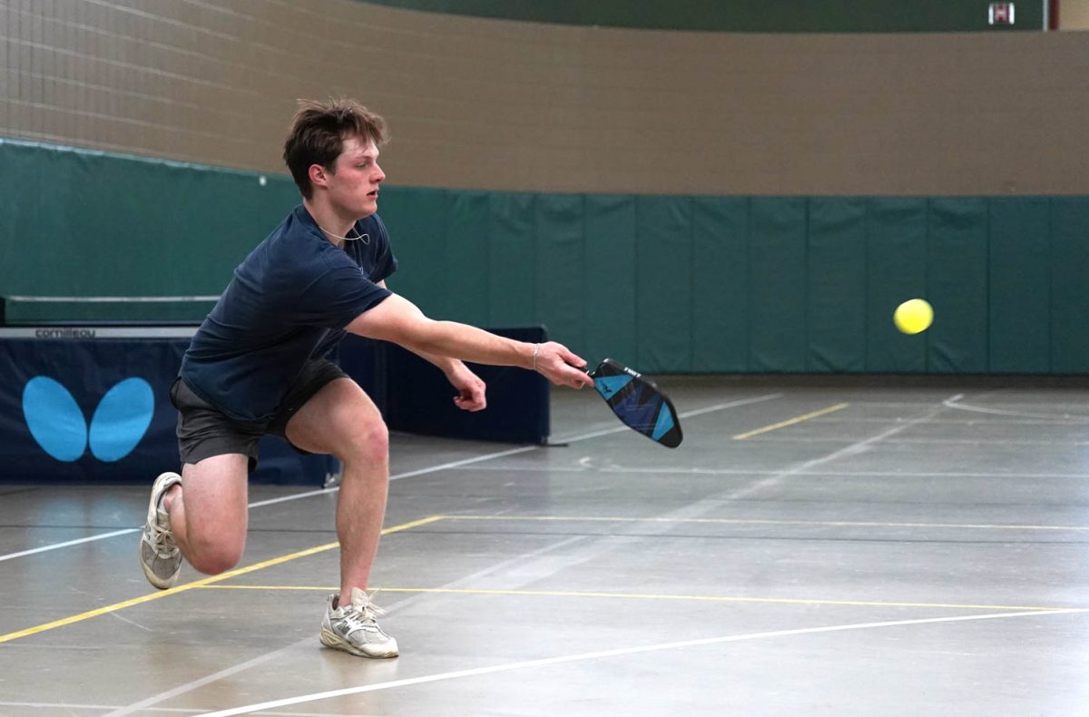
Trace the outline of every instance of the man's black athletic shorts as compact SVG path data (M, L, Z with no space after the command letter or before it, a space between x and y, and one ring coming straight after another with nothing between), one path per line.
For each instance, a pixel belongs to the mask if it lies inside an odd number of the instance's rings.
M170 387L170 402L178 409L178 451L182 463L198 463L212 455L242 453L249 457L249 470L257 466L257 441L271 434L287 440L287 422L326 384L347 374L331 361L310 361L287 388L271 418L235 421L223 415L185 385L181 378ZM291 443L287 440L289 445ZM309 453L292 446L299 453Z

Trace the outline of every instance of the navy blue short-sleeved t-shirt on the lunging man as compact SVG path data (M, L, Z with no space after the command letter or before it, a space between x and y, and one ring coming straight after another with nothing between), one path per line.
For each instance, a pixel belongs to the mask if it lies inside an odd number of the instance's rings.
M371 215L354 231L366 239L338 247L295 207L234 270L193 337L181 368L193 392L236 421L271 417L306 362L390 295L377 285L397 267L386 226Z

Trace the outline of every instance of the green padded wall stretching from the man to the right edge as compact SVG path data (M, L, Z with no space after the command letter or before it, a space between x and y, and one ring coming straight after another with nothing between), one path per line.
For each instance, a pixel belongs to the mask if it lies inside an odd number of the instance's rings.
M393 199L401 192L441 193L448 205ZM476 202L438 190L386 196L397 246L418 244L396 230L402 215L406 229L421 208L440 212L427 226L461 226ZM490 260L488 281L443 296L450 282L409 281L435 269L426 257L408 266L399 250L405 287L445 318L477 321L490 306L497 325L542 323L591 362L611 355L658 373L1089 370L1077 320L1089 311L1085 197L490 196L491 216L474 221L491 227L478 234L491 248L462 265ZM934 305L934 325L904 336L892 313L915 296Z

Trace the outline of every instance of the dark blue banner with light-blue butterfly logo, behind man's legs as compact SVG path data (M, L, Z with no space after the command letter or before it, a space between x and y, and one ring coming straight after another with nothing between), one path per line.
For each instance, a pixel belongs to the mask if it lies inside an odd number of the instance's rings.
M139 483L180 470L170 386L193 329L0 330L0 483ZM260 443L254 483L322 485L328 455Z

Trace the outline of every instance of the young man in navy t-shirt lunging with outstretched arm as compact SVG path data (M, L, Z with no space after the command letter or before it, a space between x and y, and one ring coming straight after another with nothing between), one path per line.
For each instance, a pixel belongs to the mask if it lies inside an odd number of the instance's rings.
M386 513L389 451L374 402L326 358L345 331L424 356L465 411L482 410L486 398L462 360L592 385L578 368L586 362L559 343L431 320L386 288L396 259L376 214L384 138L383 120L354 101L301 102L283 156L303 203L238 265L193 337L171 390L182 473L155 481L140 539L140 564L156 587L173 586L183 557L205 573L229 570L245 545L258 439L273 434L296 450L335 455L344 464L341 586L329 596L320 639L365 657L397 654L365 592Z

